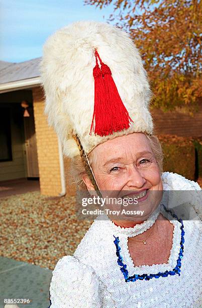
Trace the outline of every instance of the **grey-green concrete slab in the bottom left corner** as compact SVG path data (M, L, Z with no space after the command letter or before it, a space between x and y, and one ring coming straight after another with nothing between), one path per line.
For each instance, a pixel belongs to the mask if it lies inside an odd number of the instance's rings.
M48 268L0 257L0 308L5 298L30 299L30 303L17 303L18 307L48 308L52 271Z

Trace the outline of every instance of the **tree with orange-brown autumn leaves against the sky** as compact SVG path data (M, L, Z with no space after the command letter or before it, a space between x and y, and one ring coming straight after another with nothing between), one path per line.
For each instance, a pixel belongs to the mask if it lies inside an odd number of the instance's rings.
M128 31L148 72L153 106L192 112L201 98L201 2L197 0L85 0L112 5L109 22ZM185 108L184 108L185 107Z

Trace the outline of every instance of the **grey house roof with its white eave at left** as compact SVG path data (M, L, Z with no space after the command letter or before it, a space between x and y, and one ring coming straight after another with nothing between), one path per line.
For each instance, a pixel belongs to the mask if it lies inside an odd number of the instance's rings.
M37 86L41 57L20 63L0 61L0 93Z

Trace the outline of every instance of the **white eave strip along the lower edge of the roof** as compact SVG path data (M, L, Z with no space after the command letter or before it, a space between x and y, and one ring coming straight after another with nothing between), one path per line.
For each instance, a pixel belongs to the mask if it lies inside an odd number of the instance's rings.
M37 87L41 83L40 77L18 80L10 83L0 84L0 93L23 90L27 88Z

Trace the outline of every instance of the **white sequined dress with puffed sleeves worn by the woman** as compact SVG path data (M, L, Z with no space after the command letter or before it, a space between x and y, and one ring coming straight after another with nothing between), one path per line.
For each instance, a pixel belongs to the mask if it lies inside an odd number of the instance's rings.
M73 256L61 258L53 271L50 284L51 308L128 308L128 307L201 307L201 190L195 182L165 172L164 190L190 191L197 218L183 220L184 243L180 275L154 275L151 279L126 282L118 264L114 243L119 238L120 255L130 277L164 272L175 268L180 252L181 223L174 225L173 244L168 263L135 266L128 250L128 237L143 233L152 224L146 220L133 228L121 228L110 219L92 223ZM192 195L191 195L192 192ZM154 212L154 219L157 215ZM156 216L155 216L156 215ZM136 275L136 276L134 276ZM157 275L158 276L158 275Z

